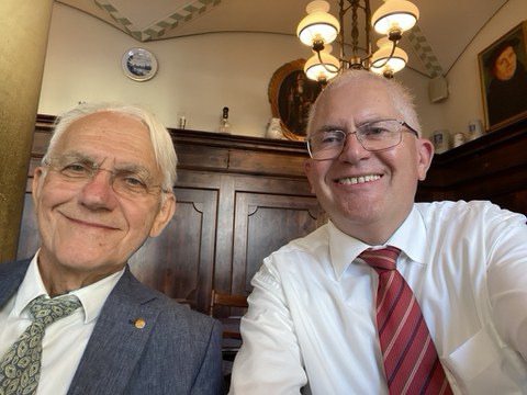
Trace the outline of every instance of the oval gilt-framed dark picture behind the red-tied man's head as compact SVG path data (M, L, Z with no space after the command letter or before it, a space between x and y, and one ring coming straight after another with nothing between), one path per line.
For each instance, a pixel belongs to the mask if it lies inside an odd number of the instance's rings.
M289 61L278 68L269 81L272 117L280 119L282 134L292 140L305 140L307 116L322 86L304 74L305 59Z

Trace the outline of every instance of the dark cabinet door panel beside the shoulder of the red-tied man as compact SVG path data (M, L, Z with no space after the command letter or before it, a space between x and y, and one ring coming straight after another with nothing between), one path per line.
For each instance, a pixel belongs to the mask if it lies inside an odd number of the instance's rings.
M232 289L249 293L264 258L326 222L315 198L236 193Z

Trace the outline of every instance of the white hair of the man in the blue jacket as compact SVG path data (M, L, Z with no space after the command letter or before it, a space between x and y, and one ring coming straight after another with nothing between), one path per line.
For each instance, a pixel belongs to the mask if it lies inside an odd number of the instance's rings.
M176 166L178 163L178 157L173 148L172 139L161 122L154 114L138 105L104 102L82 103L59 115L55 122L53 136L49 140L47 151L44 155L44 158L42 158L42 162L44 163L48 161L48 158L53 155L60 137L74 122L98 112L115 112L127 115L146 126L150 135L152 145L154 146L156 165L162 173L162 190L171 191L177 180Z

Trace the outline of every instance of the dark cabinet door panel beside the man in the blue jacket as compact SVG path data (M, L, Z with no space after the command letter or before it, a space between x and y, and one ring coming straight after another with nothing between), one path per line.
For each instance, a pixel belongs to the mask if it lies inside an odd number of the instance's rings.
M176 214L130 260L141 282L208 312L212 290L217 191L176 188Z

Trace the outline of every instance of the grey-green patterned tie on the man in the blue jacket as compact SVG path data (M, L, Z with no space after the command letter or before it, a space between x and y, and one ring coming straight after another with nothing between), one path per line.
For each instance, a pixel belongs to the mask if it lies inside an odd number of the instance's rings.
M30 303L33 323L0 360L0 395L36 393L44 331L48 325L79 307L77 298L51 300L38 296Z

